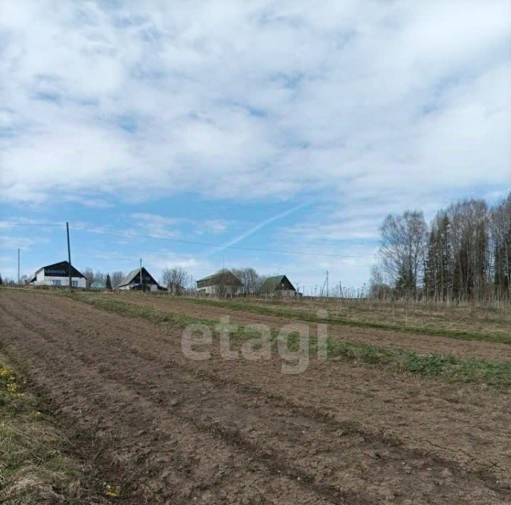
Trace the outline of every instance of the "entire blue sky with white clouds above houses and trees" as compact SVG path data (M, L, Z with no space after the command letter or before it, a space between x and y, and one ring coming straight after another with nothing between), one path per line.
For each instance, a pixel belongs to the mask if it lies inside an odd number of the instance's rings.
M79 269L361 287L387 214L510 191L510 19L510 0L0 1L1 275L18 248L21 274L64 260L68 221Z

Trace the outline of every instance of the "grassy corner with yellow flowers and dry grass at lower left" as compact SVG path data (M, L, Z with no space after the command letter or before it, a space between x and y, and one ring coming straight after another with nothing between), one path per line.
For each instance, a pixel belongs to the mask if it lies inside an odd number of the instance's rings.
M69 449L0 356L0 503L108 503L91 491L87 467Z

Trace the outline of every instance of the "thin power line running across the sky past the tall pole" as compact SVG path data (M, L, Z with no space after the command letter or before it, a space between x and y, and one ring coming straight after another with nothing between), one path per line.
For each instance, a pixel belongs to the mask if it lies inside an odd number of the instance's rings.
M11 226L63 226L65 223L6 223L3 222L1 224L11 225ZM123 231L116 230L105 230L102 228L89 228L86 226L78 226L78 225L69 225L69 228L74 228L75 230L85 230L94 233L109 233L110 235L123 235L126 237L134 237L134 238L151 238L154 240L167 240L169 242L177 242L182 244L191 244L191 245L204 245L206 247L211 248L219 248L219 249L235 249L235 250L243 250L243 251L255 251L255 252L273 252L276 254L291 254L291 255L302 255L302 256L325 256L325 257L351 257L351 258L364 258L372 256L359 256L359 255L342 255L342 254L329 254L327 252L303 252L303 251L288 251L288 250L276 250L276 249L264 249L264 248L242 248L238 245L221 245L221 244L211 244L207 242L196 242L195 240L184 240L181 238L169 238L169 237L159 237L157 235L142 235L140 233L128 233Z

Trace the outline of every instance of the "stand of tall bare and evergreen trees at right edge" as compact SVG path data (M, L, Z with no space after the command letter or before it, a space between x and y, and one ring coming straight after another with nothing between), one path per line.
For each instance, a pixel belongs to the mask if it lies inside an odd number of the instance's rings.
M389 215L380 233L372 296L511 299L511 192L493 206L456 201L429 224L422 211Z

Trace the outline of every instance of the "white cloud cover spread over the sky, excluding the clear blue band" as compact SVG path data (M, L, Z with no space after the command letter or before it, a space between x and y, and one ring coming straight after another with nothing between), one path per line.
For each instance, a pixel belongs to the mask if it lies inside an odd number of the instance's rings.
M370 238L382 213L509 186L510 15L496 0L3 2L2 198L321 191L349 211L300 233Z

